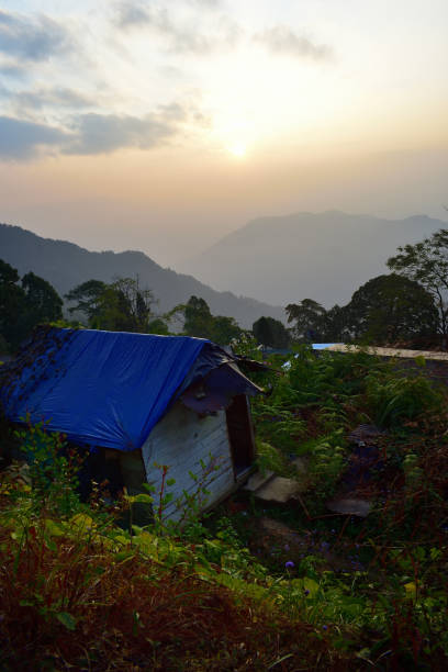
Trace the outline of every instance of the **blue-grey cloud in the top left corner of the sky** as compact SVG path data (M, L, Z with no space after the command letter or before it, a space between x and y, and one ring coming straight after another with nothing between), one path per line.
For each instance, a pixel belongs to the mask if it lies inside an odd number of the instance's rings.
M45 60L70 43L64 26L45 15L29 18L0 10L0 53L25 60Z

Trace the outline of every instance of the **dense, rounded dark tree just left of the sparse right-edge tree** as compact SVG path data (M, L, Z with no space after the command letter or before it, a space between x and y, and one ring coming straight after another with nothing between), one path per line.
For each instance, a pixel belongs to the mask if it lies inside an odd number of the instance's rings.
M343 310L351 337L377 345L437 332L433 296L418 282L396 273L362 284Z

